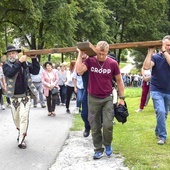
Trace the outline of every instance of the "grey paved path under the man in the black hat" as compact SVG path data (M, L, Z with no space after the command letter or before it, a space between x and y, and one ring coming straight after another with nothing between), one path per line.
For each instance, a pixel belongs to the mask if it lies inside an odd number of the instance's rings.
M75 101L71 102L71 111ZM56 117L48 117L47 109L32 108L27 149L17 146L15 129L10 108L0 110L0 169L1 170L47 170L56 160L68 138L73 115L67 114L65 106L56 106Z

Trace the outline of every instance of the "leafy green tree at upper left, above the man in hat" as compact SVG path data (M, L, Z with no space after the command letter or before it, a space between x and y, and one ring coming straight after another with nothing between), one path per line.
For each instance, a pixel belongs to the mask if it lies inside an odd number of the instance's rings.
M30 49L72 45L76 27L75 3L66 0L13 0L1 4L1 23L9 23L16 37ZM22 22L21 22L22 21Z

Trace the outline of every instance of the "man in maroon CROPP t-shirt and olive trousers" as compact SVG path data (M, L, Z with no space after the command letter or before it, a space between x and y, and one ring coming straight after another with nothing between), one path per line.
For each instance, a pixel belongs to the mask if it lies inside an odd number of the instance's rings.
M88 120L91 126L94 144L93 159L100 159L105 153L112 154L111 142L113 134L113 101L112 101L112 79L116 79L120 101L124 105L124 86L118 63L107 57L109 44L99 41L96 46L97 55L89 57L82 63L83 51L78 49L76 70L79 75L85 71L89 72L88 82ZM102 116L101 116L102 114ZM101 121L102 117L102 121ZM103 127L103 134L101 128Z

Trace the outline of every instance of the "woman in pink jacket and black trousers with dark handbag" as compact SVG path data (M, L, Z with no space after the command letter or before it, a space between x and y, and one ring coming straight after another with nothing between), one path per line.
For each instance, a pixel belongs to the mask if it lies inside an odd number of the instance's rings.
M51 90L54 87L59 89L58 74L53 70L52 63L49 61L44 64L44 69L45 70L42 73L42 83L44 95L47 99L48 116L55 116L55 106L58 94L52 95Z

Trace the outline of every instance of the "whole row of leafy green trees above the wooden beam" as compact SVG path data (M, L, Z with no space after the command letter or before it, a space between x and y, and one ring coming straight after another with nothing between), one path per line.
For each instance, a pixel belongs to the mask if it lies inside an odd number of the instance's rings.
M0 36L20 37L30 49L159 40L169 33L170 0L5 0L0 2ZM3 26L3 27L2 27ZM3 45L4 43L2 43ZM135 49L145 56L146 49ZM120 61L121 49L113 53ZM140 55L142 56L142 55Z

